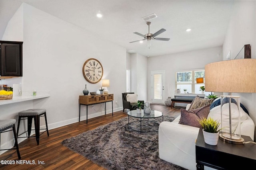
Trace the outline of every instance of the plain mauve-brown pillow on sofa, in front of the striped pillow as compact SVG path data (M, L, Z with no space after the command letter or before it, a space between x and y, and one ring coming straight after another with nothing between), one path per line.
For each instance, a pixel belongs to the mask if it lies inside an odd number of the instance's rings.
M202 127L199 123L199 119L207 118L210 112L210 104L200 107L194 110L180 109L180 121L182 125L189 125L194 127Z

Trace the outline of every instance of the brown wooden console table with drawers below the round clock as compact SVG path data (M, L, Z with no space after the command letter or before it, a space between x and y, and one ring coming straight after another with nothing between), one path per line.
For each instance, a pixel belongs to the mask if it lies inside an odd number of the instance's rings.
M113 116L113 100L114 100L114 94L79 96L79 121L80 121L81 105L86 105L86 123L88 123L88 105L105 103L105 115L106 115L106 102L112 102L112 116Z

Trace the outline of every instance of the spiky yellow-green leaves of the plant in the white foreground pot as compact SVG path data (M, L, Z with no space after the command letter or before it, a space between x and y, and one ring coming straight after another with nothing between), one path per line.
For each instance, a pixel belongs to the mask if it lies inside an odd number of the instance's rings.
M218 133L221 129L217 130L220 126L220 122L209 117L208 119L200 119L200 125L202 125L204 131L209 133Z

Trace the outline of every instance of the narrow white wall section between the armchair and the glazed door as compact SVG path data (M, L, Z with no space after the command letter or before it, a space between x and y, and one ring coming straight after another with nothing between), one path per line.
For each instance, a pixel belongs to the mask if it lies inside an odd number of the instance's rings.
M131 59L131 92L138 94L138 100L147 100L147 57L134 53Z

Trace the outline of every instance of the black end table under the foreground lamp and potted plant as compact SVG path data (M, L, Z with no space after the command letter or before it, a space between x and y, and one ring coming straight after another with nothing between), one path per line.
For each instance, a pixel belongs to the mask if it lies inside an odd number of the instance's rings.
M241 137L245 142L252 141L248 136ZM197 170L204 170L204 166L219 170L249 170L256 167L256 144L235 145L218 139L216 146L208 145L200 128L196 141L196 163Z

